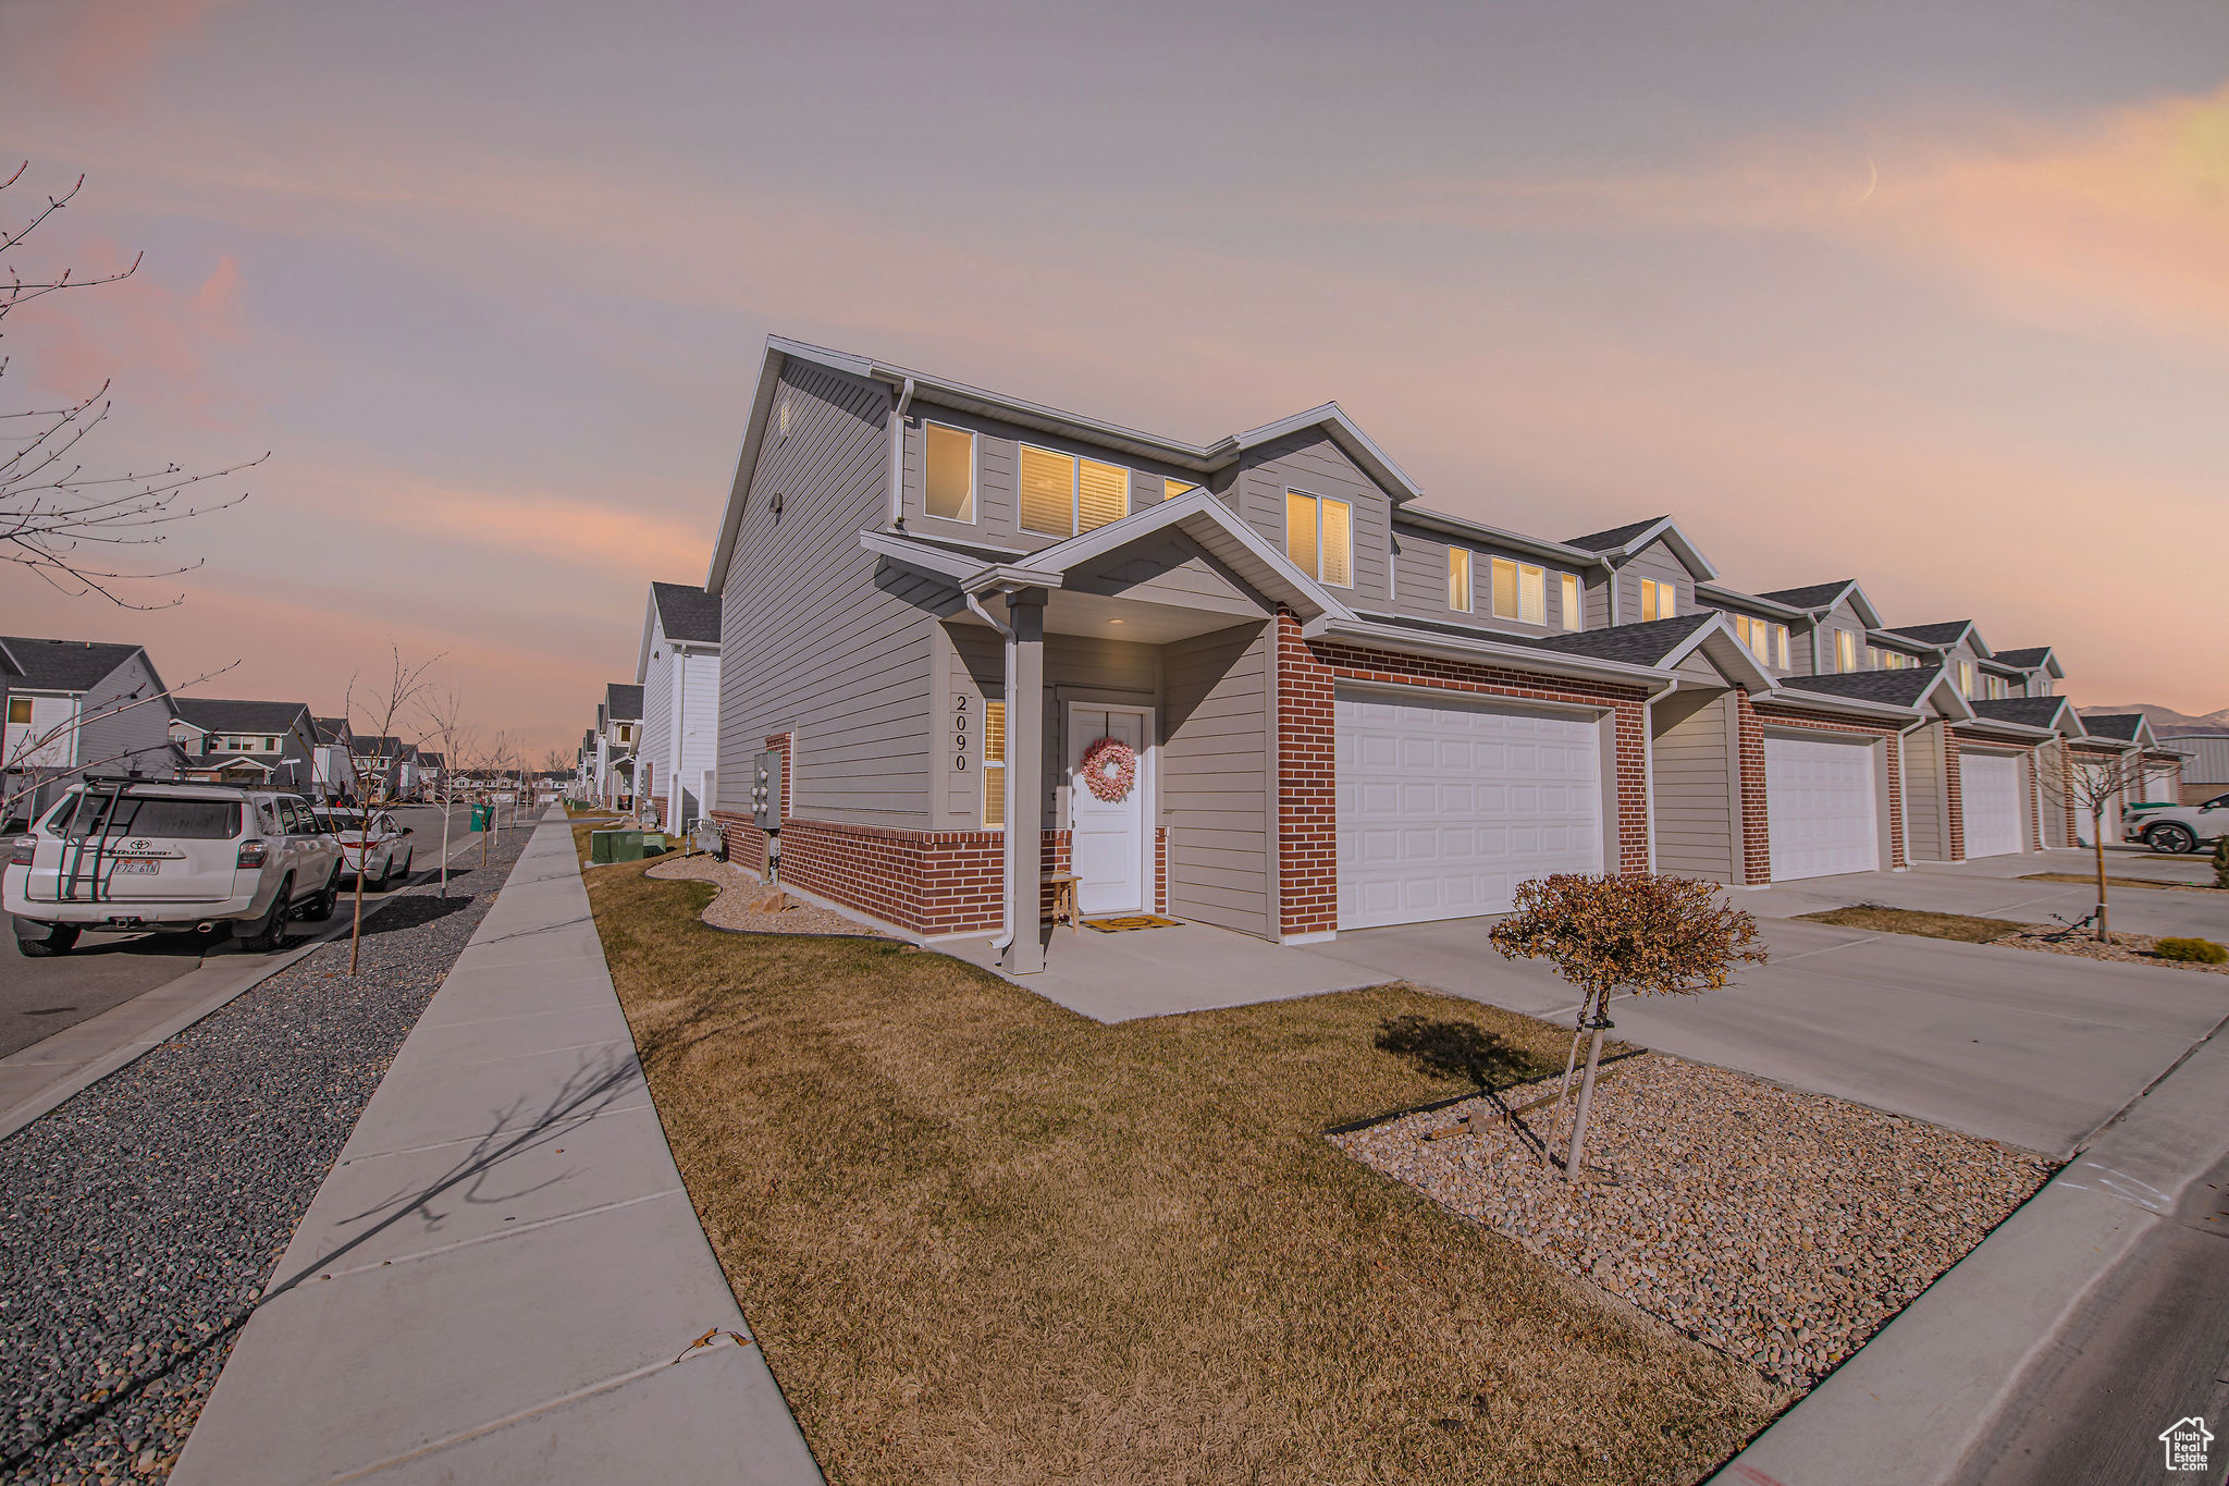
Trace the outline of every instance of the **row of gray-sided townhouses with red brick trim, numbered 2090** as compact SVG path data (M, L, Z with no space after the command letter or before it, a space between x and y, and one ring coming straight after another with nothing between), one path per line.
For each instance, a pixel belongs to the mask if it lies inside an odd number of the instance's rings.
M731 851L1014 969L1057 878L1306 942L2026 851L2082 737L2048 653L1431 510L1335 403L1186 443L780 336L704 593Z

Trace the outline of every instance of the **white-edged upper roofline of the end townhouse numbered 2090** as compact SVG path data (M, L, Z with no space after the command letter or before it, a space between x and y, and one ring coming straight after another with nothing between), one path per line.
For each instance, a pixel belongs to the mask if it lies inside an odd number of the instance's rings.
M1226 470L1239 463L1248 450L1288 434L1322 430L1324 437L1340 446L1340 450L1353 459L1364 475L1391 492L1395 504L1422 495L1415 481L1411 481L1409 475L1393 463L1393 457L1378 448L1378 443L1362 432L1362 428L1346 417L1346 410L1337 403L1320 403L1306 412L1262 423L1259 428L1224 434L1213 443L1186 443L1181 439L1164 439L1137 428L1123 428L1121 423L1106 423L1101 419L1065 412L1045 403L1008 397L1003 392L972 388L963 381L932 377L929 372L916 372L912 368L876 361L872 356L856 356L825 345L807 345L805 341L791 341L787 336L767 336L767 350L758 370L758 390L751 399L751 419L744 426L742 454L736 461L736 483L729 488L727 510L720 515L720 537L713 541L711 570L704 577L704 590L709 595L718 595L720 586L727 581L727 564L736 553L736 537L742 530L742 499L749 495L751 472L758 466L758 450L767 437L767 419L773 414L776 388L780 385L782 368L789 361L809 361L814 365L825 365L867 381L880 381L901 399L921 397L941 408L979 412L1003 423L1079 439L1083 443L1094 443L1123 454L1139 454L1143 459L1155 459L1197 475Z

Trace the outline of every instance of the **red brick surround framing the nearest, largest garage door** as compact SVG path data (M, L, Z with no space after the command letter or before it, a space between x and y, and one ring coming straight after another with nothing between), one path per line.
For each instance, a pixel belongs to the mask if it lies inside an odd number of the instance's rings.
M1511 702L1607 708L1616 720L1618 871L1649 869L1647 693L1614 682L1542 677L1502 666L1308 642L1277 613L1279 929L1324 933L1340 922L1337 755L1333 686L1391 682Z

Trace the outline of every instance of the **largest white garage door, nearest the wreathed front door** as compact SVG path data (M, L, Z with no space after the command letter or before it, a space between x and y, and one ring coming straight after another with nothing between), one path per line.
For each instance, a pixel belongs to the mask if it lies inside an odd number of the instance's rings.
M1587 717L1340 693L1340 927L1507 913L1518 882L1603 871Z

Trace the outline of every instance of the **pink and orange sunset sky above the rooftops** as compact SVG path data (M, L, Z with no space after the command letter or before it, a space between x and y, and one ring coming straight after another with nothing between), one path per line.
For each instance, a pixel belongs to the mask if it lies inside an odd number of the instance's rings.
M7 0L0 410L272 450L145 615L539 757L702 581L767 332L1206 441L1337 399L1429 504L2229 706L2229 7Z

